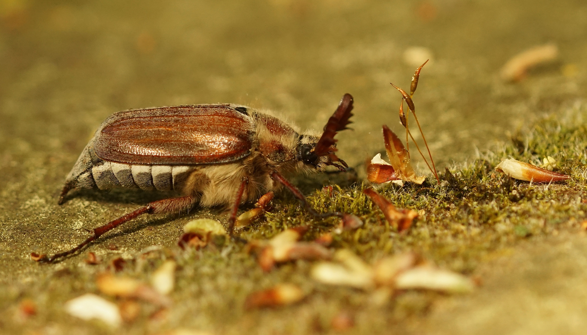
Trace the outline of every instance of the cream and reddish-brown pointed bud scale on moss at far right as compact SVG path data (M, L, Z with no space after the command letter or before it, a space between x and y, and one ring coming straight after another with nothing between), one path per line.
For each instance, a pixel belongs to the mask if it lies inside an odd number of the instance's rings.
M545 168L537 167L511 158L502 160L500 164L497 164L495 170L503 172L505 175L517 180L531 182L556 182L571 178L569 175L548 171Z

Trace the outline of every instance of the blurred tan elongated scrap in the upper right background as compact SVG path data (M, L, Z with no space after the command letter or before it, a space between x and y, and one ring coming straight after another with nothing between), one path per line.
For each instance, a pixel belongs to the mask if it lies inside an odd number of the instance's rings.
M558 58L558 47L554 43L535 46L515 55L501 69L501 79L518 82L524 79L532 67L552 62Z

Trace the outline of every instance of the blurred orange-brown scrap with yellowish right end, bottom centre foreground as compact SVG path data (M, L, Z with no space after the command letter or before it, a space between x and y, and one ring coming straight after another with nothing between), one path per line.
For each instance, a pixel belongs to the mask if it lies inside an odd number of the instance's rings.
M245 308L284 306L299 302L303 297L303 291L298 286L279 284L271 289L251 293L245 300Z

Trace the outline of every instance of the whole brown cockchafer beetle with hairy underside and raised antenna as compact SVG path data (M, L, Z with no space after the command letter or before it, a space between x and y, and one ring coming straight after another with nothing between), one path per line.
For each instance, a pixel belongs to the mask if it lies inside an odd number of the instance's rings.
M333 165L345 171L336 157L334 136L346 129L353 115L353 97L345 94L321 137L299 134L274 116L236 104L187 105L136 109L114 113L104 120L66 177L59 204L72 189L113 187L179 191L181 197L153 201L93 229L75 248L38 260L52 262L71 255L100 235L141 214L189 211L200 205L232 204L228 231L232 236L240 204L288 188L314 216L318 213L283 176L323 171ZM337 164L340 162L342 165Z

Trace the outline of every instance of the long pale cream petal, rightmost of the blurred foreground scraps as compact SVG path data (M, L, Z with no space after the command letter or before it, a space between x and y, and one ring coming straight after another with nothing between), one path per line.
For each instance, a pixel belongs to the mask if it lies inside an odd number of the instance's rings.
M467 293L474 288L473 280L460 273L417 266L400 273L396 278L397 289L429 289L448 293Z

